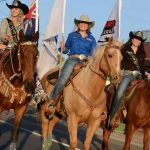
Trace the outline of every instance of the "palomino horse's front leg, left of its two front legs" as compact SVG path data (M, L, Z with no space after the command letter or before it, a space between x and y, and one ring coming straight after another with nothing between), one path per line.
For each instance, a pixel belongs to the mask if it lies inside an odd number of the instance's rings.
M67 118L69 138L70 138L70 150L75 150L77 146L77 130L78 130L78 119L74 114L69 114Z

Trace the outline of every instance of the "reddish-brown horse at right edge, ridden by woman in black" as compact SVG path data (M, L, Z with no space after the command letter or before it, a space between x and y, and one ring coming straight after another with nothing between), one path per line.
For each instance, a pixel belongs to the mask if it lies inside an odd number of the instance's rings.
M132 89L130 89L132 90ZM130 91L129 90L129 91ZM133 134L143 128L143 150L150 149L150 81L140 81L131 99L126 101L126 136L123 150L130 150Z

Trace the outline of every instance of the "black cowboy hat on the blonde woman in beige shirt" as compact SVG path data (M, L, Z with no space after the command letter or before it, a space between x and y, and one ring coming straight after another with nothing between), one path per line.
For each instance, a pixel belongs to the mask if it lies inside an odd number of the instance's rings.
M8 5L7 3L6 3L6 5L10 9L12 9L12 8L20 8L23 11L24 15L26 15L28 13L28 11L29 11L28 6L23 4L23 3L21 3L19 0L14 0L12 5Z

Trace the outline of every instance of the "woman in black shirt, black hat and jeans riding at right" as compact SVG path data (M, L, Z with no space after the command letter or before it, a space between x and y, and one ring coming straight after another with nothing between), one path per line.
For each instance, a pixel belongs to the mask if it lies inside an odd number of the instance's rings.
M118 86L109 111L109 116L106 124L106 127L108 129L110 128L111 120L115 116L115 113L120 106L121 98L125 93L129 83L132 80L142 79L145 76L147 76L148 78L150 77L150 74L145 72L144 69L145 51L143 42L145 41L145 39L143 39L143 33L141 31L135 33L130 32L129 36L130 39L121 50L123 56L123 79Z

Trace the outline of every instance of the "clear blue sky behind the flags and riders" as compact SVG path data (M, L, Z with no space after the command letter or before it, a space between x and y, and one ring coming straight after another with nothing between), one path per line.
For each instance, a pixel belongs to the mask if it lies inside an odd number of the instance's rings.
M31 3L31 0L21 1L26 4ZM54 1L39 0L40 39L45 33ZM6 2L11 4L12 0L0 0L0 20L9 15ZM116 0L67 0L65 39L73 30L74 18L87 14L91 20L96 22L91 31L98 40L115 2ZM136 30L150 30L150 0L122 0L121 39L126 41L129 32Z

